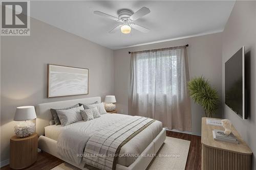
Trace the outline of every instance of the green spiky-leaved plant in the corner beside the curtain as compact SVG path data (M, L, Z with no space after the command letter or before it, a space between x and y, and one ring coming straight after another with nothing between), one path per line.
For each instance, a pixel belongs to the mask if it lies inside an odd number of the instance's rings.
M218 109L219 95L203 76L194 78L188 82L190 97L195 103L201 105L206 117L212 117Z

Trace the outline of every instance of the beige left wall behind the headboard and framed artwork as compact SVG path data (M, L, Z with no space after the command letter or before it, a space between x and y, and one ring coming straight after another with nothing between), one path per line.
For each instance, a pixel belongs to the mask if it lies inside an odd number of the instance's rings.
M89 68L89 94L47 99L48 63ZM31 36L1 37L1 161L17 106L113 94L113 66L113 50L35 19Z

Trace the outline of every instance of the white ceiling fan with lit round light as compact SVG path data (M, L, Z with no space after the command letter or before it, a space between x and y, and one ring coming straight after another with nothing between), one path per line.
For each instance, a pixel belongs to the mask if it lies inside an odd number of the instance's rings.
M133 13L133 11L130 9L120 9L117 11L118 17L112 16L112 15L109 15L109 14L106 14L106 13L103 13L100 11L94 11L94 14L108 17L117 22L121 22L120 25L118 25L117 27L112 29L109 33L115 33L117 30L121 29L121 32L123 34L129 34L131 32L132 28L135 30L138 30L142 33L149 32L150 31L149 29L139 26L139 25L136 25L135 23L132 23L133 21L139 19L140 17L142 17L148 13L150 13L150 9L148 9L146 7L142 7L135 13Z

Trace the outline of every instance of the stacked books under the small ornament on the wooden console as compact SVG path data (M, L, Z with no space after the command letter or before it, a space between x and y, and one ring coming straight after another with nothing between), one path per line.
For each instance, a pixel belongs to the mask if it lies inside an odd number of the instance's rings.
M212 131L212 135L214 136L214 140L225 141L230 143L239 143L236 136L234 136L232 133L230 133L229 135L226 135L222 130L215 129Z

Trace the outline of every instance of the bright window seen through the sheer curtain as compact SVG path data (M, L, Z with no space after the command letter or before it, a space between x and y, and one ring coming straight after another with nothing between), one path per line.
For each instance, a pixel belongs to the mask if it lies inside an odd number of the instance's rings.
M177 94L177 52L137 54L135 77L138 94Z

